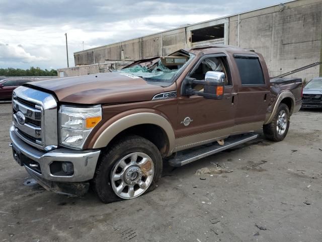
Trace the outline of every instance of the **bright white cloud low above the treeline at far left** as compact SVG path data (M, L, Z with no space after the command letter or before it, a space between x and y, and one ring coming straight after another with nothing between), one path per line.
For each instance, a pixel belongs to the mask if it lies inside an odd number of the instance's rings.
M48 60L47 57L35 56L26 52L21 44L12 45L0 42L0 62L33 63L46 60Z

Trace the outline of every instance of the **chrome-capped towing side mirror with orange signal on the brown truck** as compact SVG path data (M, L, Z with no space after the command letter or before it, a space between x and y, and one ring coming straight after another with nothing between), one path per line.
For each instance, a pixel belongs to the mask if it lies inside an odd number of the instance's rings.
M186 78L186 89L184 96L198 95L211 99L222 99L225 86L225 74L223 72L209 71L206 73L205 80L199 81L193 78ZM204 85L203 92L192 89L192 84Z

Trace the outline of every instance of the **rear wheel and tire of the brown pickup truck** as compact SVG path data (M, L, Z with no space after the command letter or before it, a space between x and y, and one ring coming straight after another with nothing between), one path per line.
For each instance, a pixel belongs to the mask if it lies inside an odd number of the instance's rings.
M271 141L282 141L290 126L290 111L285 103L281 103L271 123L263 125L265 138Z

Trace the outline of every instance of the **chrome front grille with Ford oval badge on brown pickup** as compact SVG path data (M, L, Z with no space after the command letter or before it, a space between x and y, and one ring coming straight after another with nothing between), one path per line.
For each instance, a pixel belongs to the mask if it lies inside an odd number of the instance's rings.
M24 86L16 88L13 123L15 132L25 143L40 150L57 146L57 102L51 94Z

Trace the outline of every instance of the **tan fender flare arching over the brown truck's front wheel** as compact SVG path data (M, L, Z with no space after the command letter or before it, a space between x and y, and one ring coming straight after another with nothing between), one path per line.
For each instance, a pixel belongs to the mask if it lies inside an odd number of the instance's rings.
M136 125L151 124L164 130L169 140L169 154L175 147L175 134L170 122L162 115L151 112L139 112L124 116L108 126L97 138L93 149L106 147L122 131Z

